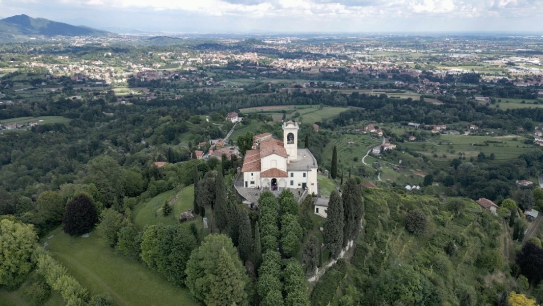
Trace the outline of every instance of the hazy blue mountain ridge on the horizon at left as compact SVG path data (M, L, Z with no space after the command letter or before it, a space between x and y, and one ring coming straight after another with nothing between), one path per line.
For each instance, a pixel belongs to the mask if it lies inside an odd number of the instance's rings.
M21 36L107 36L110 32L83 26L15 15L0 20L0 39L21 39Z

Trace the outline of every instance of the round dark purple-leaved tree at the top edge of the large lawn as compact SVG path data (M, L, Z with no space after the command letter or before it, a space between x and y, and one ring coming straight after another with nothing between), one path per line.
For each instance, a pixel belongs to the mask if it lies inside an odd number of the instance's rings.
M92 200L81 193L66 204L64 232L72 236L89 233L98 221L98 213Z

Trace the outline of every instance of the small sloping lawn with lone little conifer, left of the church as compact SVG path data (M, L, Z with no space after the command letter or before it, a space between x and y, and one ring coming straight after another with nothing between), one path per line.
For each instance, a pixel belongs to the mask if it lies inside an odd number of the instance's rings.
M133 210L134 225L137 228L142 229L148 225L158 223L179 224L178 219L181 213L192 208L194 186L191 185L183 188L183 190L181 190L181 192L177 195L177 200L174 200L175 196L175 190L169 190L160 193L160 195L157 195L145 203L138 203ZM165 201L174 201L172 214L166 217L162 215L161 210L162 204ZM198 221L198 218L195 221ZM201 222L198 223L201 224Z

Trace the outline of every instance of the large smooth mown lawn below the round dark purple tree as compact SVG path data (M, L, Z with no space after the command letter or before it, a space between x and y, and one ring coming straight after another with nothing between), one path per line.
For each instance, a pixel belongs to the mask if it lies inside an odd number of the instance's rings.
M176 287L158 272L115 253L96 233L72 237L62 230L51 233L48 249L92 294L110 295L116 305L198 305L186 288Z

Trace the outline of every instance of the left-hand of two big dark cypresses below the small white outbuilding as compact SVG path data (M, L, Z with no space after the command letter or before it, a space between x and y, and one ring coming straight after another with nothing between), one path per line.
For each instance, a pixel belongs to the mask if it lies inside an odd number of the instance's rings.
M334 190L330 195L328 209L326 210L326 222L324 223L323 240L330 251L330 256L338 258L343 245L344 211L343 201L339 193Z

